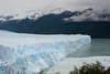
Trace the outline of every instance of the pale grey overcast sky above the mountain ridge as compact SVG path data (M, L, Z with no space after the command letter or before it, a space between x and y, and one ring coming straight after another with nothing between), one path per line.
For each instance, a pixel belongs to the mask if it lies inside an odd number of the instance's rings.
M57 8L72 11L87 8L110 10L110 0L0 0L0 15L18 14L30 10L50 12Z

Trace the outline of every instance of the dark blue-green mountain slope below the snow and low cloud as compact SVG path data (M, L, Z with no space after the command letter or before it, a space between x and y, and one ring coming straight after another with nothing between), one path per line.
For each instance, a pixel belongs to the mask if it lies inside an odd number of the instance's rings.
M61 14L45 14L35 21L24 19L0 23L0 30L34 34L89 34L91 38L110 38L110 21L66 22L63 19L81 14L65 11ZM108 15L107 15L108 17Z

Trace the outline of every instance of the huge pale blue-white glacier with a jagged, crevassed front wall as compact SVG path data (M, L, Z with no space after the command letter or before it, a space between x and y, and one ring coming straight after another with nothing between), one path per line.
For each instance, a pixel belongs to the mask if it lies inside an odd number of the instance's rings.
M36 74L90 42L81 34L0 32L0 74Z

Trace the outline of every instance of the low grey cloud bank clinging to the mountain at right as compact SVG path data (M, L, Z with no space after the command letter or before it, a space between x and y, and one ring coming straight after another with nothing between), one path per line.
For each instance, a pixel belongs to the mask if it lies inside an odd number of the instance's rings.
M101 12L97 12L95 10L86 10L81 11L80 14L73 15L70 18L65 18L65 21L110 21L110 12L108 10L103 10Z

